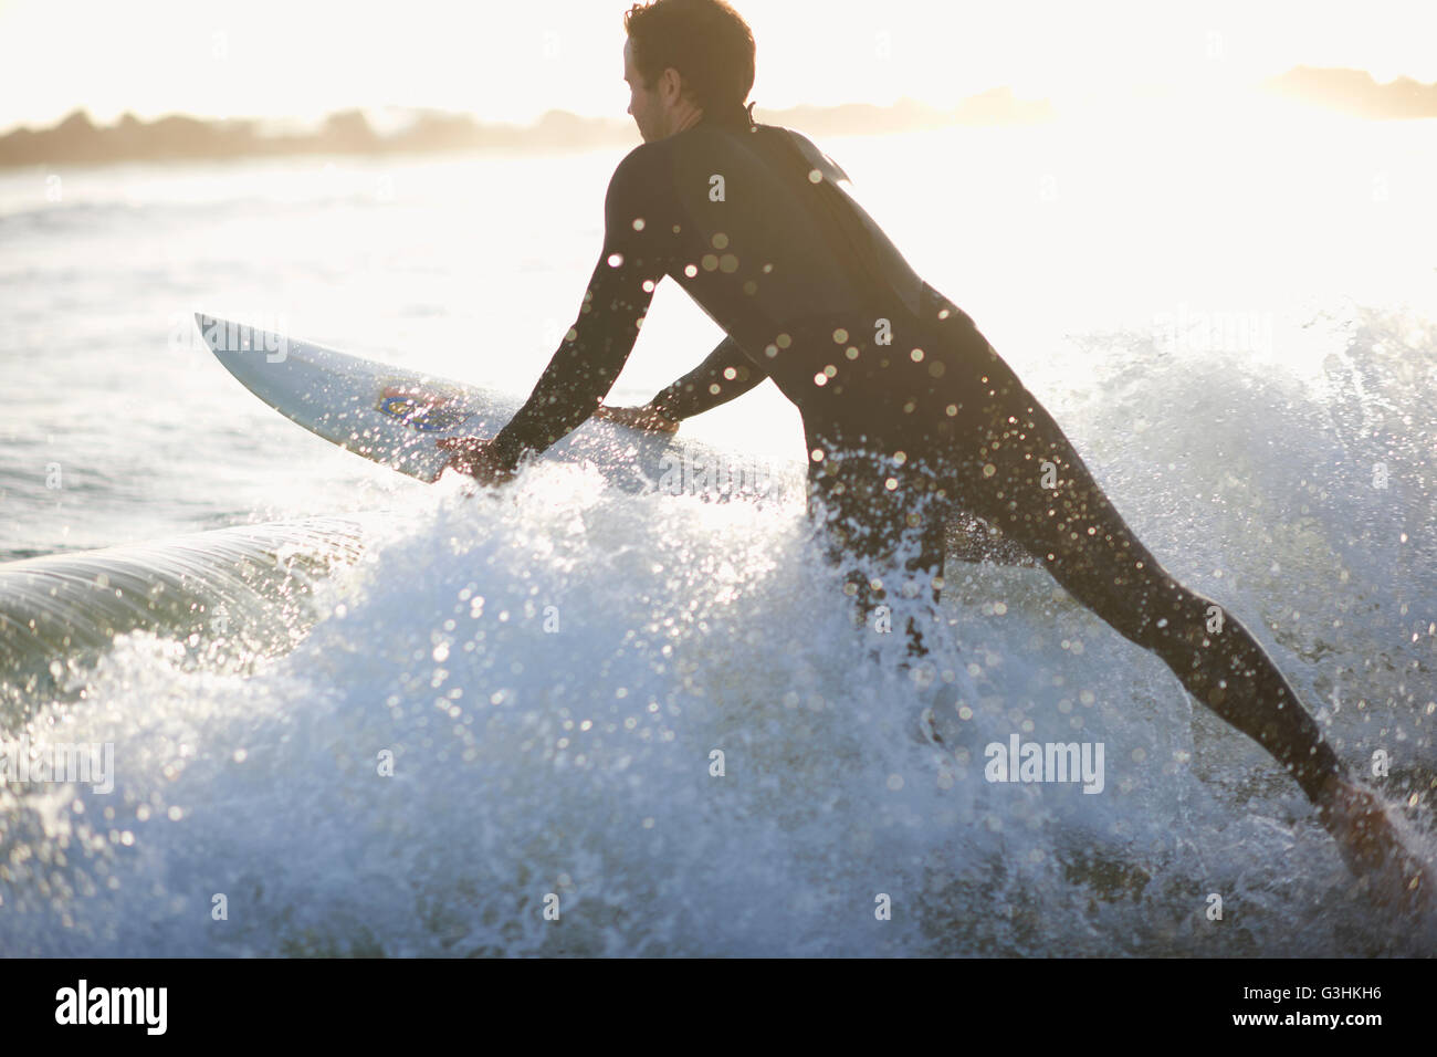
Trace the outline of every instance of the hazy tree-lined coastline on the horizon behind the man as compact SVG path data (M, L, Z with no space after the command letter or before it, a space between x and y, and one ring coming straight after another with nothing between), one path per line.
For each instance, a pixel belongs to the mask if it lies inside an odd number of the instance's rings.
M1298 66L1265 81L1262 89L1372 119L1437 116L1437 85L1407 78L1380 85L1371 73ZM1050 101L1026 101L1009 88L970 96L951 109L912 99L891 106L756 108L759 121L792 125L813 135L898 132L948 125L1020 125L1053 121ZM17 128L0 137L0 167L93 165L122 161L211 161L296 154L412 155L444 152L556 154L637 144L628 118L586 118L549 111L533 125L484 124L467 114L410 111L391 132L376 131L362 111L332 114L316 129L274 131L260 119L208 121L170 115L139 121L131 114L96 125L75 111L57 125Z

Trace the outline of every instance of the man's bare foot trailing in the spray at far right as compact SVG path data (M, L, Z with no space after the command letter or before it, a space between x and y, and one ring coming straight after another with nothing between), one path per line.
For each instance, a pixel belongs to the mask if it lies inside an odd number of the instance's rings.
M1369 884L1375 902L1410 909L1431 906L1426 871L1397 836L1380 797L1334 775L1318 814L1348 869Z

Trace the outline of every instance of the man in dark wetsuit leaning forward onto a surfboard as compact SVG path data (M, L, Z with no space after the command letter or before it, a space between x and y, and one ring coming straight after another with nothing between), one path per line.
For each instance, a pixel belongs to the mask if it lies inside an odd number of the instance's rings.
M441 441L451 465L507 480L598 413L668 276L729 337L647 407L608 417L675 429L772 378L802 416L809 508L861 605L935 597L946 522L983 518L1272 754L1357 874L1387 894L1420 892L1381 802L1247 628L1168 575L973 319L838 186L846 174L805 137L753 122L743 19L721 0L655 0L624 24L644 144L609 181L579 316L493 440Z

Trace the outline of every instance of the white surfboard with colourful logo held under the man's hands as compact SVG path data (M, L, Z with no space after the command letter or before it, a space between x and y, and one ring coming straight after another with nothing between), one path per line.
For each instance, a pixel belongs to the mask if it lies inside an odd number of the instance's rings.
M519 410L513 395L364 360L309 341L195 314L224 368L310 433L428 483L450 453L445 437L491 437ZM787 498L800 469L698 444L673 434L591 418L545 453L585 462L625 490L727 498Z

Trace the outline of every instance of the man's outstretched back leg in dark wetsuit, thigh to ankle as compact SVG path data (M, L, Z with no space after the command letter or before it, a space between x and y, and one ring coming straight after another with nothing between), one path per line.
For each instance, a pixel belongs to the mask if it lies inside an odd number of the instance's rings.
M1006 414L984 427L983 456L957 483L961 502L1124 637L1157 653L1194 697L1289 769L1309 798L1325 800L1342 765L1257 640L1163 568L1026 388L1010 384L1003 403Z

